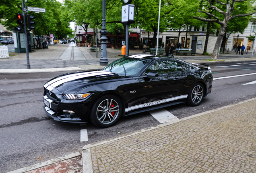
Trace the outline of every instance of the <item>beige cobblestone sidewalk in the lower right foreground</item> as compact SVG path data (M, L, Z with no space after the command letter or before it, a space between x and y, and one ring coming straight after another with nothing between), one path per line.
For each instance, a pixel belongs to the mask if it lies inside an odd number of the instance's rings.
M256 99L91 147L94 173L256 173Z

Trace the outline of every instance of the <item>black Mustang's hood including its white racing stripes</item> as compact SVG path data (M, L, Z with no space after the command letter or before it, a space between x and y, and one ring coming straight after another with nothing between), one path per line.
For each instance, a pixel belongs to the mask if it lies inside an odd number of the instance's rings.
M96 82L110 80L118 74L108 71L76 72L52 78L43 87L49 91L57 89L61 93L76 93Z

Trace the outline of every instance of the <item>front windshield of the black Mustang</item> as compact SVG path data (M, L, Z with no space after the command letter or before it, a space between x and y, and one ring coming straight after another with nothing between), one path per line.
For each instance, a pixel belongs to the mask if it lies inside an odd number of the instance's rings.
M150 59L125 57L112 62L102 70L118 73L119 76L137 76L149 62Z

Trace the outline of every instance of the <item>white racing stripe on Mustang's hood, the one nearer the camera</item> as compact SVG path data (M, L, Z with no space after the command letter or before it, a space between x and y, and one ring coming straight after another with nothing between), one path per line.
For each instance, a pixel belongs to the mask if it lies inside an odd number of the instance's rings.
M49 90L49 91L52 91L52 89L54 89L55 87L59 86L60 84L65 83L65 82L69 82L69 81L76 80L76 79L79 79L79 78L85 78L85 77L90 77L90 76L102 76L102 75L106 75L106 74L114 74L114 73L107 72L107 71L101 71L101 72L96 72L96 73L91 73L91 74L70 76L68 78L64 78L62 80L58 80L57 82L54 82L54 83L50 84L46 89Z

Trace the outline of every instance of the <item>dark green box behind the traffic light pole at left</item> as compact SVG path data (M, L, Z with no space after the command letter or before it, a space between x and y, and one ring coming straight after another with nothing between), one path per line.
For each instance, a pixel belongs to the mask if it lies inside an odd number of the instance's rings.
M26 53L25 33L12 30L15 53ZM28 51L34 52L33 34L27 33Z

